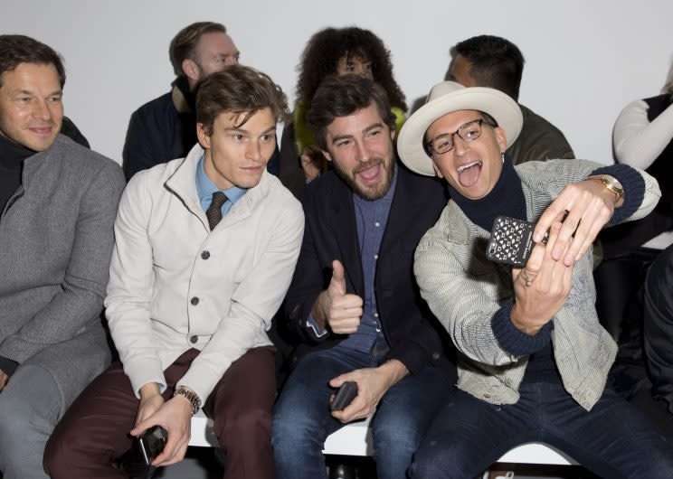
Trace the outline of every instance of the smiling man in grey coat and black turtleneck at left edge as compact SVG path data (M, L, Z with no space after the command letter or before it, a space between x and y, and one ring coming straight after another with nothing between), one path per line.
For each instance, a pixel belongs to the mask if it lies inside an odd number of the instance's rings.
M59 134L59 55L0 35L0 472L47 477L44 445L109 363L100 313L118 164Z

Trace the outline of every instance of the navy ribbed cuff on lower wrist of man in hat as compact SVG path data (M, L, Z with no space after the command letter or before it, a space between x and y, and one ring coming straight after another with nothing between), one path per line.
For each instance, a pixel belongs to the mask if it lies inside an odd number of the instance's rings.
M502 306L491 318L491 329L496 336L500 347L514 356L527 356L540 351L551 339L552 322L545 324L540 331L531 336L520 331L512 323L509 314L514 303Z

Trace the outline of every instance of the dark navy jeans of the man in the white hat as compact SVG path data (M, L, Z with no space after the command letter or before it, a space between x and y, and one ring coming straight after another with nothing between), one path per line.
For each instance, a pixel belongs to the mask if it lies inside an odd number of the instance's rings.
M673 448L615 392L586 411L560 384L522 385L516 404L494 405L462 390L432 422L412 477L469 478L527 442L555 446L602 477L673 477Z

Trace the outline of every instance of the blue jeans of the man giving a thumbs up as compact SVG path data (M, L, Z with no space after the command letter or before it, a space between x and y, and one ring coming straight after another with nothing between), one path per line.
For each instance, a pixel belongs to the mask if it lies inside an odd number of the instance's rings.
M310 352L289 376L273 411L271 443L280 479L327 478L322 449L328 435L344 425L329 413L329 380L345 372L376 367L387 349L371 353L336 346ZM389 389L373 421L374 461L380 479L405 476L434 413L455 390L438 368L408 375Z

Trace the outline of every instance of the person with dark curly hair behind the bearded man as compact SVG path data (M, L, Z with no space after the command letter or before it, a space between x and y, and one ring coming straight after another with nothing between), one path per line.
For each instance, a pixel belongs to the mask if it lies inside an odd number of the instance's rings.
M280 179L293 193L298 193L327 168L327 159L316 146L305 118L313 95L327 76L357 74L379 83L390 99L398 131L407 109L402 89L393 78L390 52L369 30L326 28L314 33L297 70L294 122L285 128L280 146Z

